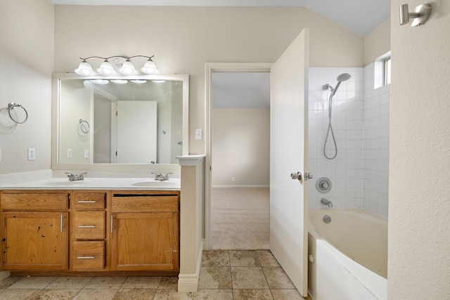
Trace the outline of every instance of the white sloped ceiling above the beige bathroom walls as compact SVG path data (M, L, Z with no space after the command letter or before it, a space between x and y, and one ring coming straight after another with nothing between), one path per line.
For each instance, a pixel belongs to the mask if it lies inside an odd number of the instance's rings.
M50 0L62 5L304 6L365 37L390 17L390 0Z

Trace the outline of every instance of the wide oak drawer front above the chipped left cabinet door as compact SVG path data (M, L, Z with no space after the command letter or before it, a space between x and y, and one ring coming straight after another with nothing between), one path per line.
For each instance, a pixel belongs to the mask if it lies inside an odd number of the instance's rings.
M4 210L56 210L69 208L69 193L2 193Z

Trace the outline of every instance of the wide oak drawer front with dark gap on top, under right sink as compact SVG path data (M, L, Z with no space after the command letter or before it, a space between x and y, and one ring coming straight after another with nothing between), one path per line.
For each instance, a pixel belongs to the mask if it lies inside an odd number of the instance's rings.
M123 212L161 212L161 211L179 211L178 196L165 195L127 195L113 197L113 211Z

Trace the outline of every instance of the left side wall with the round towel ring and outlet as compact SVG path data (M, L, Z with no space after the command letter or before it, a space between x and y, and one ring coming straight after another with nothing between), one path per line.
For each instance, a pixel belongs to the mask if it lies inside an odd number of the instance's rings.
M0 174L51 168L54 8L48 0L0 1ZM24 124L8 117L23 105ZM27 160L35 148L36 160Z

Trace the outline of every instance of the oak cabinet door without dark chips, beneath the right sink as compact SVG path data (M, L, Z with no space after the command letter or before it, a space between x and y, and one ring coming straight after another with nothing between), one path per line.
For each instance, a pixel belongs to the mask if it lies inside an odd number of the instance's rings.
M115 270L179 270L179 214L113 214Z

